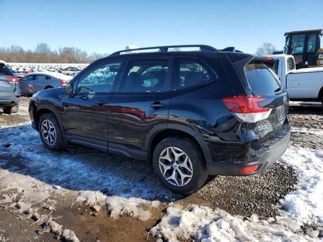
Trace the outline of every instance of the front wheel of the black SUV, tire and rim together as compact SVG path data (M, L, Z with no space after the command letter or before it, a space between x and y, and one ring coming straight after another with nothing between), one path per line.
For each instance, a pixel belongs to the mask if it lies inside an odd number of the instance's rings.
M44 113L40 116L38 131L42 143L49 150L61 150L67 145L61 127L52 113Z

